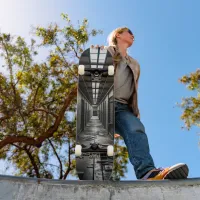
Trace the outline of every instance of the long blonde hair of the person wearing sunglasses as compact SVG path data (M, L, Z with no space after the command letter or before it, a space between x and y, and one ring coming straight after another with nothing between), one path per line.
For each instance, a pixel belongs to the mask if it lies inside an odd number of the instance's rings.
M113 30L108 35L108 38L107 38L108 45L109 46L113 46L114 49L115 49L115 53L113 55L113 63L114 63L114 69L115 69L114 71L116 71L118 63L122 60L122 56L121 56L121 54L119 52L119 48L117 46L116 34L117 33L123 33L124 31L127 31L127 30L129 30L128 27L119 27L119 28L116 28L115 30Z

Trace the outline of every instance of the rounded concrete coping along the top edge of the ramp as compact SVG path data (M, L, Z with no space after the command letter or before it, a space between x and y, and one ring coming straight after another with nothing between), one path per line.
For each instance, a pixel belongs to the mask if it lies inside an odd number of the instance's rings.
M156 181L93 181L93 180L59 180L59 179L42 179L42 178L27 178L19 176L0 175L0 182L12 181L21 183L37 183L48 185L88 185L101 187L120 187L120 188L135 188L135 187L173 187L173 186L200 186L200 178L188 178L182 180L156 180Z

